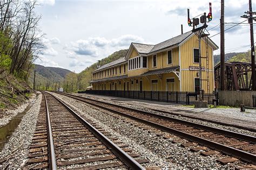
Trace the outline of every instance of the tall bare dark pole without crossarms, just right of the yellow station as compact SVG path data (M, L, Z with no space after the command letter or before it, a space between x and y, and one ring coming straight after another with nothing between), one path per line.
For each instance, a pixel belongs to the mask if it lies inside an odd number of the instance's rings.
M220 90L225 90L224 0L220 9Z

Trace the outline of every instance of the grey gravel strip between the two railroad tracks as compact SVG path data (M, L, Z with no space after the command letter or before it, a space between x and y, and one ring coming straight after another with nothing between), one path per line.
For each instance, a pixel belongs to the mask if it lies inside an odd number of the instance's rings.
M161 132L157 129L147 126L146 129L140 126L146 126L141 123L132 121L119 115L114 115L106 110L92 107L91 105L81 103L71 99L70 97L56 94L62 98L72 108L75 108L80 114L91 116L93 121L97 121L100 126L113 132L120 140L129 144L133 150L137 150L142 156L145 155L153 164L161 168L234 168L243 165L244 162L237 161L233 164L220 165L216 160L228 157L223 154L215 154L210 157L203 157L199 152L191 152L190 147L181 147L180 143L173 144L171 141L186 141L172 134ZM140 124L136 126L134 124ZM159 133L171 136L164 139Z

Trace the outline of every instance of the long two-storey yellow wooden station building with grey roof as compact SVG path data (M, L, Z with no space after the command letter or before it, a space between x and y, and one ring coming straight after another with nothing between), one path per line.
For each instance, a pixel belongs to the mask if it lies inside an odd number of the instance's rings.
M218 46L210 38L202 38L202 86L205 93L207 89L214 90L215 49ZM199 91L198 72L198 37L190 31L156 45L132 42L124 58L93 71L90 83L93 90Z

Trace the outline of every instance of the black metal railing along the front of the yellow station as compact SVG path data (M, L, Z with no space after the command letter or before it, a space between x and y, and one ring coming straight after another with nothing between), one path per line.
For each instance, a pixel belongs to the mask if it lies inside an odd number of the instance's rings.
M142 100L174 102L182 104L194 104L197 101L199 94L195 92L180 92L180 91L124 91L124 90L86 90L78 91L78 93L106 95L114 97L136 98ZM203 94L203 99L208 101L208 104L213 104L214 100L218 101L217 94Z

